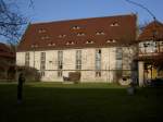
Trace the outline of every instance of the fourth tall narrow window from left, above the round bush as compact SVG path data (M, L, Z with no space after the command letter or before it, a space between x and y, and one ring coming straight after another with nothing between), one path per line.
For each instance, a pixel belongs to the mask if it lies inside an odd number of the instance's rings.
M82 50L76 50L76 70L82 70Z

